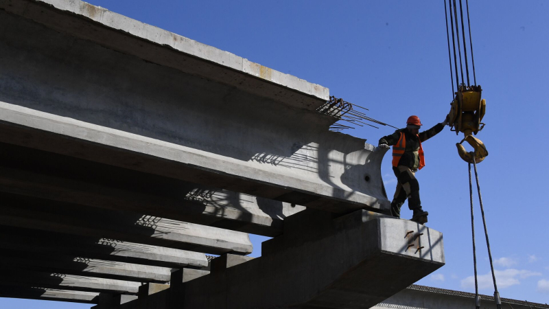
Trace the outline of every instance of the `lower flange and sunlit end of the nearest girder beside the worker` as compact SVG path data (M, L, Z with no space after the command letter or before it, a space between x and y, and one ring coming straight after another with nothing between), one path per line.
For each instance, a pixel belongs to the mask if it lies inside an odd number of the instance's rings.
M0 141L8 144L213 185L275 201L343 214L362 208L388 213L390 207L381 178L381 161L386 150L371 145L364 148L363 141L351 141L347 145L338 141L339 145L333 145L333 148L347 150L325 149L323 155L326 157L322 161L317 157L322 154L316 152L324 150L319 150L320 145L313 143L300 146L299 152L303 153L295 152L288 157L260 154L263 159L250 157L248 163L243 164L229 157L212 156L208 152L5 102L0 102L0 128ZM333 134L332 142L341 139L336 135L339 133ZM303 159L309 154L312 155L310 159ZM295 163L282 164L285 159ZM264 163L270 166L263 166ZM299 167L302 163L305 165ZM313 166L307 168L309 163ZM312 174L307 175L303 168ZM275 170L280 170L280 174Z

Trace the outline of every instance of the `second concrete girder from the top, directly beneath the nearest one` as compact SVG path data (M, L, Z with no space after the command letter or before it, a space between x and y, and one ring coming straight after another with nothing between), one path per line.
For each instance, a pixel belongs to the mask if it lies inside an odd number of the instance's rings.
M0 191L264 236L303 206L0 143Z

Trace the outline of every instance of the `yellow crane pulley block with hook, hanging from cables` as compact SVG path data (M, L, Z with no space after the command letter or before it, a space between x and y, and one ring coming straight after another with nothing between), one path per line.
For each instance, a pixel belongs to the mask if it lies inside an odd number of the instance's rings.
M473 136L484 128L482 117L486 113L486 100L481 99L481 95L480 86L461 85L448 114L450 130L455 131L456 135L460 132L465 135L456 146L461 159L469 163L480 163L488 155L486 146ZM465 150L462 145L464 141L474 148L474 152Z

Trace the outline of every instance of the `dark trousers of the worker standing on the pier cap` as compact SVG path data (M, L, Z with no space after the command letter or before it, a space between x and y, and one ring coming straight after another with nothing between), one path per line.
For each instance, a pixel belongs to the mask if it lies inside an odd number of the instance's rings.
M408 198L408 208L410 210L421 209L421 200L419 199L419 183L417 182L415 172L412 172L408 166L399 165L393 167L393 172L397 176L397 190L390 203L390 209L393 216L400 218L400 207Z

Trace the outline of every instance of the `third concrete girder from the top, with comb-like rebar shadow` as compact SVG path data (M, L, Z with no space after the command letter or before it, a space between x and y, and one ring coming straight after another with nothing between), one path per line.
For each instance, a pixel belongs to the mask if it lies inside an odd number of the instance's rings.
M74 207L10 194L1 196L0 225L8 227L114 238L212 254L249 254L253 250L247 233L126 211Z

